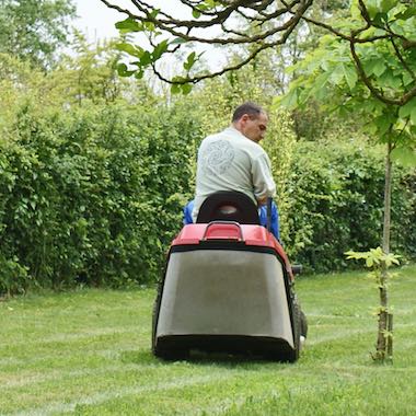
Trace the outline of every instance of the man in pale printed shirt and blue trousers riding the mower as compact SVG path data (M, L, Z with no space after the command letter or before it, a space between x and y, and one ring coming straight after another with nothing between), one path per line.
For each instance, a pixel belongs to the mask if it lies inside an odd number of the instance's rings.
M219 190L242 192L259 208L268 197L275 196L276 184L271 176L270 161L258 145L266 134L267 124L266 112L247 102L234 111L230 127L203 140L198 150L193 222L196 221L204 200ZM186 219L187 210L189 206L185 208L186 223L189 222ZM264 208L261 213L262 211ZM271 229L275 236L279 238L276 206L273 211ZM262 218L265 219L265 212L261 215Z

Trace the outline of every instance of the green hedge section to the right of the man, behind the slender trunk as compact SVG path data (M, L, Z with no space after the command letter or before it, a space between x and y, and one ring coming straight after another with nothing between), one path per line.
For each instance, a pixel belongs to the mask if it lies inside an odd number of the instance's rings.
M282 227L288 253L309 271L347 267L347 250L381 245L384 149L300 141L287 180ZM394 166L392 251L416 255L416 172Z

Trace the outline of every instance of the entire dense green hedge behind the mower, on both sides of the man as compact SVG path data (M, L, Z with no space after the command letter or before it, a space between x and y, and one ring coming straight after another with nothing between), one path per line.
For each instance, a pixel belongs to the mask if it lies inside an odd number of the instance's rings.
M158 279L194 190L195 105L41 113L22 106L0 139L0 293ZM277 182L291 259L328 271L347 266L345 251L379 245L383 152L287 146L290 167ZM415 184L414 170L395 169L392 246L406 257L416 256Z

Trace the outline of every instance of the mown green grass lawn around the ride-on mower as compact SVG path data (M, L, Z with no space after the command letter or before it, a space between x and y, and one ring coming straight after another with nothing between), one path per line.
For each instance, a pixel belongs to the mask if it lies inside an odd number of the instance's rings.
M391 285L393 365L372 363L377 289L365 274L303 277L296 365L150 354L154 290L0 302L1 415L415 415L416 266Z

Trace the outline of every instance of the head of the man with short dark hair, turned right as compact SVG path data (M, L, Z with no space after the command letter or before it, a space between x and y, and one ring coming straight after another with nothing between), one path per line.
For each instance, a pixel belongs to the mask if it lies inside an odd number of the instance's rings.
M250 140L258 143L265 136L268 117L258 105L247 102L235 108L232 125Z

